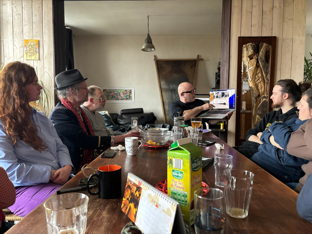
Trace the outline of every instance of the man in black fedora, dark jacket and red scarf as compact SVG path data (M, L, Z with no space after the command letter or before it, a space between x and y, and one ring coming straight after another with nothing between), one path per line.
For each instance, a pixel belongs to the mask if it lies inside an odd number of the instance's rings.
M54 124L71 155L76 172L92 161L94 149L106 150L115 142L124 142L128 136L139 137L139 132L130 132L122 136L95 136L90 120L80 105L88 100L85 80L77 69L63 71L55 77L55 88L61 100L51 112L50 120Z

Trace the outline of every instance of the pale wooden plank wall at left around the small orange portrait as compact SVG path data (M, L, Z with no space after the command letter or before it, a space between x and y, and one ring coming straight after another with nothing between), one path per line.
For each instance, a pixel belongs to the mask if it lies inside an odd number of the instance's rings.
M0 0L0 67L30 64L54 94L52 0ZM39 60L24 60L24 39L39 40ZM54 96L51 100L54 106Z

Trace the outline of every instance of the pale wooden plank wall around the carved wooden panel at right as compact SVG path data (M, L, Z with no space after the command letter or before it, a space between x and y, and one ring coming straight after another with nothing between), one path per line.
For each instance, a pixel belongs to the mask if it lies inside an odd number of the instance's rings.
M303 80L306 0L232 0L229 88L236 87L237 39L276 36L274 83ZM236 110L240 111L240 110ZM235 145L235 118L228 124L229 145Z

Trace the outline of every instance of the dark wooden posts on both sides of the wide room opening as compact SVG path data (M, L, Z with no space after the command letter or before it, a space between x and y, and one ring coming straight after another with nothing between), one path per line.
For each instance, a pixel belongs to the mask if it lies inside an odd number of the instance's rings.
M79 1L79 0L74 0ZM106 0L107 1L107 0ZM222 0L220 88L229 85L232 0ZM64 0L52 0L54 75L66 70ZM54 79L54 87L56 87ZM59 102L54 92L55 105Z

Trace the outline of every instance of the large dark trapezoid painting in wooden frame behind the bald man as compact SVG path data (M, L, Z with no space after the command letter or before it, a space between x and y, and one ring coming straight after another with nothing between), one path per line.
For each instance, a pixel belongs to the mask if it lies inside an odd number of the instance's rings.
M195 85L199 60L203 60L199 58L199 55L197 55L197 59L157 59L154 56L163 119L166 124L173 124L169 105L172 101L179 100L179 84L189 82Z

